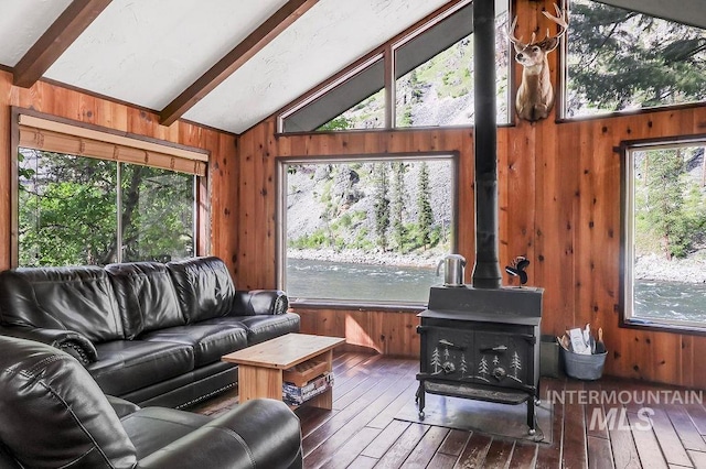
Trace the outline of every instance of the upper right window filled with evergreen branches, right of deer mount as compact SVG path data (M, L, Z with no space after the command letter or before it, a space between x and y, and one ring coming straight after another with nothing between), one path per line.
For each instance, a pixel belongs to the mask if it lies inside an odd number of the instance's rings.
M706 31L571 0L567 117L706 100Z

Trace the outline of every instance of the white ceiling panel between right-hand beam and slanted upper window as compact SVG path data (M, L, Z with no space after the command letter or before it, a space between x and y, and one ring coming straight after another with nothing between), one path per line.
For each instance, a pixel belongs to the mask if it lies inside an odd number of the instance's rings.
M321 0L184 118L240 133L445 3Z

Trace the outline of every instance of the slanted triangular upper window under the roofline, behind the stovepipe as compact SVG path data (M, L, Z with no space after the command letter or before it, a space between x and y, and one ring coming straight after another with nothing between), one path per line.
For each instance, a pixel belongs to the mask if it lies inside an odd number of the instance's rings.
M507 4L496 18L498 121L509 122ZM282 132L436 127L473 122L472 2L399 37L280 116ZM386 109L385 54L394 56L394 109ZM391 61L393 62L393 61Z

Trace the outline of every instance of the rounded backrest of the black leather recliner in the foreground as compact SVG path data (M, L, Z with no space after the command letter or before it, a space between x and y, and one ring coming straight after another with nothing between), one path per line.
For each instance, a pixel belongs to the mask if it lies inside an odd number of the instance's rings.
M137 450L88 371L44 343L0 336L0 441L26 468L135 468ZM0 466L7 467L0 460Z

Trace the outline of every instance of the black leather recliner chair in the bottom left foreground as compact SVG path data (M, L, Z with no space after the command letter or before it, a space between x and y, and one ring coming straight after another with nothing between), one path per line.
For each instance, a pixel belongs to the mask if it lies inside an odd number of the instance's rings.
M286 404L254 400L212 418L106 396L51 346L0 337L0 468L301 468Z

